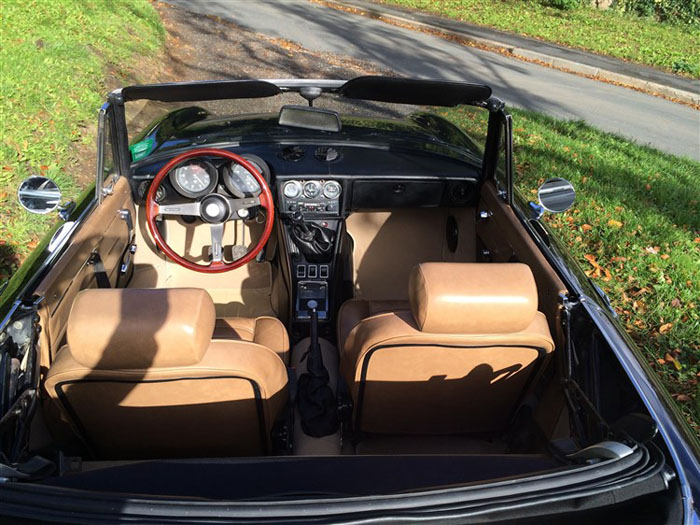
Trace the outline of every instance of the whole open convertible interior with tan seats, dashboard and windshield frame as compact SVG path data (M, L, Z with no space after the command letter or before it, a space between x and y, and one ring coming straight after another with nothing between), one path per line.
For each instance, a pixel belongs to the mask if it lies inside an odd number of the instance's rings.
M256 97L295 103L207 106ZM457 104L488 112L483 149L422 109ZM548 255L544 210L512 189L488 87L133 86L100 123L95 202L38 274L34 335L15 327L14 381L36 397L3 455L51 465L27 482L255 500L615 463L648 480L620 502L662 491L670 508L663 444Z

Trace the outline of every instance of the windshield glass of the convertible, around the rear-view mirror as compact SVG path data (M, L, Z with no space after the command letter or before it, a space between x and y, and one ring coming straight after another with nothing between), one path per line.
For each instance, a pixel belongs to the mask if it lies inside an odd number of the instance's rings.
M353 100L324 93L314 108L340 115L339 132L278 124L285 105L308 106L299 93L257 99L197 102L136 101L127 103L127 129L132 160L193 146L222 146L265 140L372 142L387 147L401 142L479 163L474 143L435 115L445 108ZM472 108L476 109L476 108ZM483 111L483 110L478 110ZM485 113L485 112L484 112Z

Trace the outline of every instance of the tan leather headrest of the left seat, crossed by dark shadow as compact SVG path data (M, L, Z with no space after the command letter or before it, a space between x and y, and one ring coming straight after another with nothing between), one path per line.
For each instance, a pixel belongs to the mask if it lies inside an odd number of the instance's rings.
M189 366L202 359L215 318L200 289L84 290L68 318L68 348L100 370Z

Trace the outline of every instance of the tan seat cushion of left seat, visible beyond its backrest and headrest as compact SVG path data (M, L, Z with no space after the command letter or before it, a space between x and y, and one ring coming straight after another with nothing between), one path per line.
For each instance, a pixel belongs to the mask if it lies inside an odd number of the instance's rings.
M214 339L250 341L266 346L289 363L289 336L282 322L275 317L226 317L216 320Z

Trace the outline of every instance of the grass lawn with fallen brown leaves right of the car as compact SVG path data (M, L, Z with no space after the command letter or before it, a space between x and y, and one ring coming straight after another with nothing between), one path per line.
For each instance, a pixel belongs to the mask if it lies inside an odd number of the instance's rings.
M574 184L574 207L546 222L700 430L700 163L583 122L510 111L518 189L536 201L549 177ZM483 142L485 111L442 113Z

